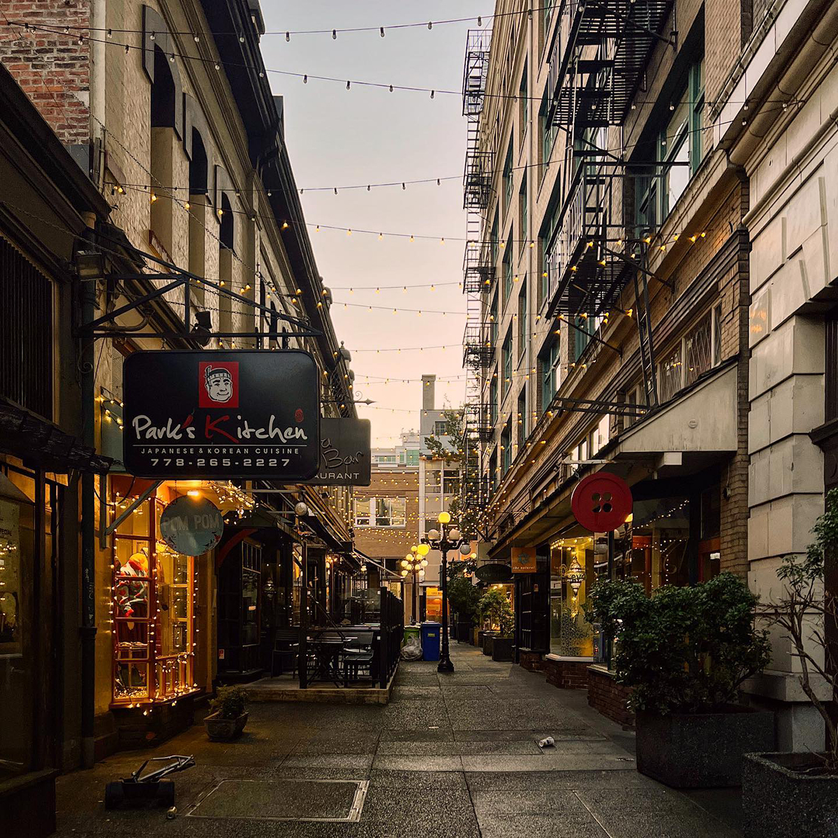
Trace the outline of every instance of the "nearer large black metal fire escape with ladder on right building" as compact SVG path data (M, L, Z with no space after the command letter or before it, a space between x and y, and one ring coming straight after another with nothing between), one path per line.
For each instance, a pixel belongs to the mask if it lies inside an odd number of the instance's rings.
M566 132L566 199L547 249L548 314L568 320L608 312L629 282L646 404L657 406L644 241L623 218L626 163L608 150L643 79L671 0L565 0L550 51L548 118Z

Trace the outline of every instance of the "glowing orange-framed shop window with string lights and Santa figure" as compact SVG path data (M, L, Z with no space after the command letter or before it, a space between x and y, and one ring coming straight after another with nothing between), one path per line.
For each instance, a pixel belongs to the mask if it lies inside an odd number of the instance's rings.
M124 499L111 504L119 510ZM194 680L195 559L159 538L163 499L140 504L113 535L113 704L172 701Z

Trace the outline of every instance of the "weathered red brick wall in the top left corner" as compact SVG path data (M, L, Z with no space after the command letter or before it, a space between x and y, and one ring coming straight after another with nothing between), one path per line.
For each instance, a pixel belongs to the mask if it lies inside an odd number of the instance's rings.
M90 44L79 44L77 28L90 26L88 0L0 0L0 13L9 21L58 30L4 26L0 61L61 142L89 142Z

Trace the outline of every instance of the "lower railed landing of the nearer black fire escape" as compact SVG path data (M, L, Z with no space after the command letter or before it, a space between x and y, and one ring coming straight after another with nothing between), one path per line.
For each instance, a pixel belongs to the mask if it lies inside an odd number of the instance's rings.
M616 230L610 204L609 178L581 166L546 254L548 316L601 314L628 281L629 266L609 251L609 232Z

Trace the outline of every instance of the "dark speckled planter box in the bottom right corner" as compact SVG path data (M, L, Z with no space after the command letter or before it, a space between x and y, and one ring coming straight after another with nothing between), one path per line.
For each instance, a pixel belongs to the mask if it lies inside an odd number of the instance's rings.
M747 838L838 835L838 776L804 774L810 753L748 753L742 760L742 831Z

